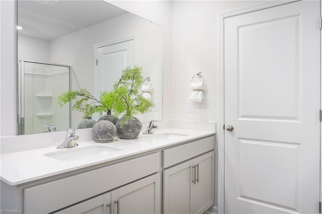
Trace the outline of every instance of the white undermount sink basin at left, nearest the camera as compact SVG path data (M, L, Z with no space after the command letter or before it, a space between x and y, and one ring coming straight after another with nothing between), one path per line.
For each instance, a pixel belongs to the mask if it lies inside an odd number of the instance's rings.
M75 161L91 158L98 155L106 155L123 150L120 147L107 145L93 145L86 147L73 147L63 149L63 151L46 153L44 156L60 160L60 161Z

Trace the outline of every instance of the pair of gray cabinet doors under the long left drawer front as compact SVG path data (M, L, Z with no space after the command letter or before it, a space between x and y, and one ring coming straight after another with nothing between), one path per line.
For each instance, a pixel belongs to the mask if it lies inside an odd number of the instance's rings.
M160 173L54 213L160 213Z

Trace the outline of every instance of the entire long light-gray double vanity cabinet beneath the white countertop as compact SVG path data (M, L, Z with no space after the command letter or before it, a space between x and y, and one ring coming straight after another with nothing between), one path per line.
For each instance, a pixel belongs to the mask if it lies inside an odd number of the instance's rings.
M28 182L2 180L1 208L26 214L206 211L214 204L214 133L162 143Z

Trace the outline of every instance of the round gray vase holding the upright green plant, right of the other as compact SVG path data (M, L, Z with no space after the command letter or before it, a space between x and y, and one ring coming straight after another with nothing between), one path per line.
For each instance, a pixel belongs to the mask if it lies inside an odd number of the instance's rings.
M135 117L123 117L115 126L118 137L126 140L137 139L142 129L141 122Z

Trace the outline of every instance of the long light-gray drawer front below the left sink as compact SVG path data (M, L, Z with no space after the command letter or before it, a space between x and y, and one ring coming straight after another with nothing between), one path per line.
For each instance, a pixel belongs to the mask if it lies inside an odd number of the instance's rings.
M160 153L24 189L25 213L48 213L159 171Z

